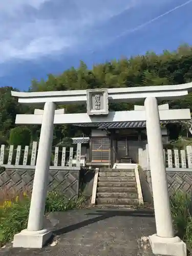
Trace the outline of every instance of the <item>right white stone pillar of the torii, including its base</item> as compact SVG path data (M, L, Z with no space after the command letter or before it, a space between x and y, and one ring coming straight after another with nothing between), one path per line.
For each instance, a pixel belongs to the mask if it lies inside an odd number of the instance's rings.
M152 250L154 254L185 255L184 243L174 238L157 99L148 97L144 105L157 229L157 234L150 236Z

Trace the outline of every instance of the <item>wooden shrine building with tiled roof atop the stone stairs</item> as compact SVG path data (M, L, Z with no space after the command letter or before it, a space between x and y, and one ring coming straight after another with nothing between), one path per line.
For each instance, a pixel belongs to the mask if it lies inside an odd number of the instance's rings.
M168 143L168 131L165 126L162 127L161 133L163 143ZM97 123L91 127L90 140L83 142L82 138L81 143L89 165L138 163L138 149L145 148L147 144L145 122Z

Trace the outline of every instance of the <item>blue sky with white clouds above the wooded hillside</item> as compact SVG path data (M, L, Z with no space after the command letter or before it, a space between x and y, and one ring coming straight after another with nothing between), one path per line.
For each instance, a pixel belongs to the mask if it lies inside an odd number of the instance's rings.
M192 45L192 0L7 0L0 3L0 84Z

